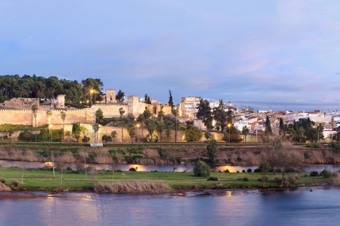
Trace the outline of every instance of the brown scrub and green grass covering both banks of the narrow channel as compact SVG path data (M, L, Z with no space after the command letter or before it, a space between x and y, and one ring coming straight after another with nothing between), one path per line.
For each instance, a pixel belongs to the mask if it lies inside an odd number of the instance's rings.
M261 189L340 184L339 172L304 172L304 163L339 162L337 145L290 145L280 138L266 145L206 143L106 145L16 143L1 145L2 160L48 161L46 169L0 167L1 190L94 191L156 194L177 189ZM68 163L76 163L70 169ZM193 172L121 171L120 162L193 165ZM106 163L111 170L95 170L91 163ZM244 172L210 172L208 164L258 165ZM255 172L254 172L255 171ZM8 189L9 188L9 189Z

